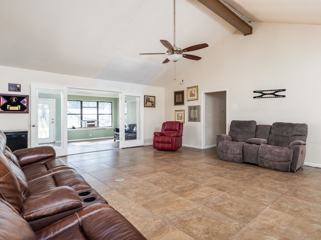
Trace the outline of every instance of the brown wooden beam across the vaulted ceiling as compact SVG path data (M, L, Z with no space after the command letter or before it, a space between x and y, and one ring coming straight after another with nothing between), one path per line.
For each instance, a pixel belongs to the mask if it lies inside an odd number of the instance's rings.
M222 17L244 35L252 34L252 26L224 5L220 0L198 0L217 15Z

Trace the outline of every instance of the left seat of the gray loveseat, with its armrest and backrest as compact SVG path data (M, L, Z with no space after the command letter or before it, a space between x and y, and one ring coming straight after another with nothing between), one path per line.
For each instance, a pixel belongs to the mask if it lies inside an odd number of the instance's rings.
M229 134L216 136L216 147L219 157L223 160L243 162L243 145L247 139L254 138L256 121L233 120Z

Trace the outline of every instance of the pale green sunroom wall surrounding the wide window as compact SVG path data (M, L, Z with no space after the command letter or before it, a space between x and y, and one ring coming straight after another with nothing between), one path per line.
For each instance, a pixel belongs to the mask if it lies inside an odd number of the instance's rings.
M68 129L68 141L89 138L114 137L114 127L119 125L119 98L100 96L68 95L68 100L112 101L113 119L112 127L105 128L76 128ZM90 135L91 134L91 135Z

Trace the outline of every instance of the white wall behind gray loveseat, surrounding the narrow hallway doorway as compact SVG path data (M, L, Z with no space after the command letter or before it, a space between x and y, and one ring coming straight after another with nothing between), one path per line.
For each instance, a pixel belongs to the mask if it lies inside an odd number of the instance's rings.
M198 85L200 95L228 88L229 122L306 123L305 164L321 167L321 25L254 23L252 35L236 32L210 47L197 64L177 76L184 78L185 89ZM166 105L173 105L173 91L181 87L174 81L166 87ZM284 98L253 99L254 90L282 88L286 89ZM201 101L186 102L181 108L187 110L191 104ZM173 119L174 109L166 108L166 120ZM201 146L201 124L186 121L183 144Z

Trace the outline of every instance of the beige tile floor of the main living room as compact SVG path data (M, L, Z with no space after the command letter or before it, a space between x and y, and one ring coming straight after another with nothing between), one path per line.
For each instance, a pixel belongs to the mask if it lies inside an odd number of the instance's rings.
M216 148L63 158L150 240L321 239L321 168L270 170L220 160Z

